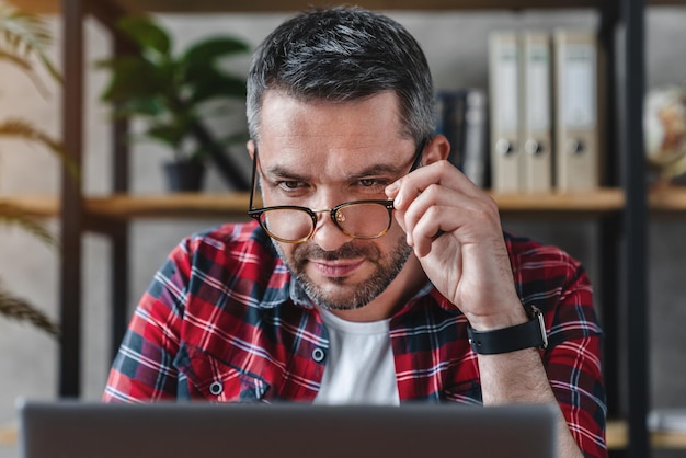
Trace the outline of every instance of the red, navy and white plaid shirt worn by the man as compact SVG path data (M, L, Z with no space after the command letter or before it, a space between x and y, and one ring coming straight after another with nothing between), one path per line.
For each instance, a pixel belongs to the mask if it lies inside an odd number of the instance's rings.
M505 240L522 302L544 311L550 345L541 356L572 435L585 456L605 457L601 329L586 274L557 248ZM312 401L329 340L317 309L294 302L290 283L254 222L185 239L140 300L104 401ZM467 320L437 290L396 313L390 337L401 402L481 403Z

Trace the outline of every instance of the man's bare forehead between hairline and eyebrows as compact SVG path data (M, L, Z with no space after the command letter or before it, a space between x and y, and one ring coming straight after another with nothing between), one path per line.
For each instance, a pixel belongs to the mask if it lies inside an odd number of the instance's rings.
M265 93L260 161L345 168L350 162L402 161L413 141L403 135L399 101L391 92L346 101L301 101Z

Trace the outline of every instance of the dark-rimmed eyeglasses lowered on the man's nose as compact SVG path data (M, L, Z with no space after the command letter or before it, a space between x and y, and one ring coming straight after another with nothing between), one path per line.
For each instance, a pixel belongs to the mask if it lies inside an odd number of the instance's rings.
M426 140L420 141L408 173L420 165L425 146ZM297 205L253 208L256 174L258 147L255 145L248 215L260 222L267 236L279 242L302 243L308 241L317 230L318 215L325 213L331 216L333 224L343 233L354 239L377 239L386 236L391 227L393 201L389 199L351 201L322 210L313 210Z

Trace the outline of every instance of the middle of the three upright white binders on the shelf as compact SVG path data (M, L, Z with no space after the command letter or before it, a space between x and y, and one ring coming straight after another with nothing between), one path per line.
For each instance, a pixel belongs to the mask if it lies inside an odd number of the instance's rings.
M550 34L523 32L521 39L521 190L552 188L552 62Z

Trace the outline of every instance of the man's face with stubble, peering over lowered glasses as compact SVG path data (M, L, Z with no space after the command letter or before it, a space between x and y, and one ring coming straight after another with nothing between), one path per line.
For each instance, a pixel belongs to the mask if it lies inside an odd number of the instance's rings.
M262 106L259 174L265 206L321 210L359 199L386 199L404 175L414 141L401 135L398 101L381 93L354 102L299 102L277 91ZM305 243L274 242L279 255L320 306L346 310L384 293L411 249L393 220L378 239L344 234L329 213ZM399 288L401 286L396 286Z

